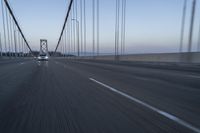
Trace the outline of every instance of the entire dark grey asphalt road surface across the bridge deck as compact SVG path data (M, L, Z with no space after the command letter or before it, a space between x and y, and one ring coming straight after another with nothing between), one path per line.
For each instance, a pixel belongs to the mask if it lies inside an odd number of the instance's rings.
M0 133L199 133L200 66L0 64Z

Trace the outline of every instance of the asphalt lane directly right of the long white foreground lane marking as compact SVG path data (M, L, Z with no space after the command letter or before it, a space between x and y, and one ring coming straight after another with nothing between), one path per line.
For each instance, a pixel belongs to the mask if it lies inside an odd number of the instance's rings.
M200 127L200 90L194 88L192 85L187 86L181 84L174 84L174 82L165 82L160 80L160 76L164 76L170 80L180 80L186 82L184 78L176 77L174 71L165 72L166 70L156 70L148 68L128 68L126 66L116 65L92 65L79 63L80 61L61 61L60 63L67 64L68 69L82 73L102 81L105 84L112 85L131 96L134 96L158 109L164 110L170 114L178 116L183 120ZM158 72L156 72L158 71ZM140 77L135 76L140 73ZM155 73L157 78L150 79L149 76ZM173 76L170 76L171 74ZM178 72L179 73L179 72ZM188 73L186 73L188 74ZM143 80L143 79L148 80ZM187 79L188 80L188 79ZM197 86L200 84L199 80L195 81Z

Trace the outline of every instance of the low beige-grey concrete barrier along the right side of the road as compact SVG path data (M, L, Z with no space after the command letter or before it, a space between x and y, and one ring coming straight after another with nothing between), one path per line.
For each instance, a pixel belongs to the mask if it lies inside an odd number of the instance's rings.
M96 60L119 60L119 61L143 61L143 62L177 62L177 63L200 63L200 52L192 53L156 53L156 54L132 54L115 57L96 56L84 57L84 59Z

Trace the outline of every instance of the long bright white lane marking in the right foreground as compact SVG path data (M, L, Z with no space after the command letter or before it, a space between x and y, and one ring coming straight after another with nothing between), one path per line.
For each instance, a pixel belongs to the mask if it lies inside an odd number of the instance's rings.
M172 120L172 121L174 121L174 122L176 122L176 123L188 128L188 129L190 129L190 130L192 130L192 131L194 131L196 133L200 133L200 129L199 128L196 128L196 127L192 126L190 123L185 122L184 120L182 120L182 119L180 119L180 118L178 118L178 117L176 117L176 116L174 116L172 114L169 114L169 113L167 113L165 111L157 109L157 108L155 108L155 107L153 107L153 106L151 106L151 105L149 105L149 104L147 104L147 103L145 103L145 102L143 102L141 100L138 100L138 99L136 99L136 98L134 98L132 96L129 96L128 94L125 94L125 93L123 93L121 91L118 91L117 89L114 89L114 88L112 88L112 87L110 87L110 86L108 86L108 85L106 85L104 83L101 83L101 82L99 82L99 81L97 81L97 80L95 80L93 78L89 78L89 79L91 81L93 81L93 82L95 82L95 83L97 83L97 84L99 84L99 85L101 85L101 86L103 86L103 87L115 92L115 93L118 93L118 94L120 94L120 95L122 95L122 96L124 96L124 97L126 97L126 98L128 98L128 99L130 99L130 100L132 100L132 101L134 101L136 103L138 103L138 104L141 104L142 106L144 106L144 107L146 107L146 108L148 108L148 109L150 109L152 111L157 112L158 114L160 114L160 115L162 115L162 116L164 116L164 117L166 117L166 118L168 118L168 119L170 119L170 120Z

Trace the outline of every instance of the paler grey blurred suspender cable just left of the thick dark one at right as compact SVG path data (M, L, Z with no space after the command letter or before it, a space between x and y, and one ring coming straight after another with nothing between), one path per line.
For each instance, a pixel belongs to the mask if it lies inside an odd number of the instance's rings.
M182 52L182 51L183 51L183 38L184 38L184 31L185 31L186 9L187 9L187 0L184 0L184 5L183 5L183 16L182 16L182 24L181 24L181 38L180 38L180 48L179 48L179 52Z

